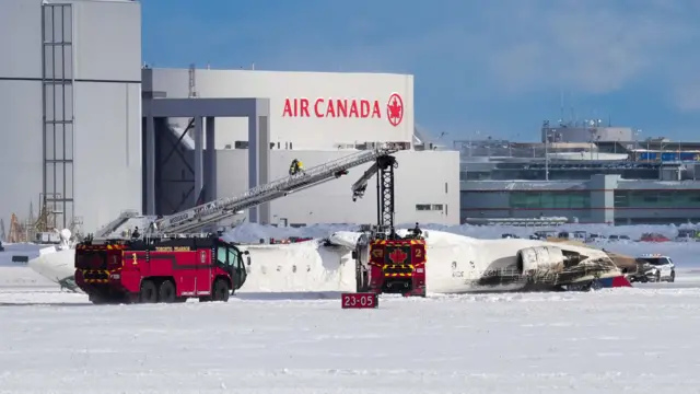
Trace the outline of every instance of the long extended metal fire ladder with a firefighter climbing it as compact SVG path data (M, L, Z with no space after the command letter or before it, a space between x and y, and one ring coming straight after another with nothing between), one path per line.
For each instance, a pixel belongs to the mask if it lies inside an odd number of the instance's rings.
M304 173L287 176L256 186L240 196L220 198L156 220L151 231L156 233L187 233L205 225L235 216L240 211L284 197L291 193L317 186L345 175L343 172L376 161L377 158L395 153L402 148L395 143L377 143L372 150L311 167Z

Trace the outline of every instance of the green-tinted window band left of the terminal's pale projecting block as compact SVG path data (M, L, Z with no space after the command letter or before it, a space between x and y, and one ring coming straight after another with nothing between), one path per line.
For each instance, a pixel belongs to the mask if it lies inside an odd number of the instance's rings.
M513 192L510 194L512 208L530 209L588 209L591 194L588 192Z

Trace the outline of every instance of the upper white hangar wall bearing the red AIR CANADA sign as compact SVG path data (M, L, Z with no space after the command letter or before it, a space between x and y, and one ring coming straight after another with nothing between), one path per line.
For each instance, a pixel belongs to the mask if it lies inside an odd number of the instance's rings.
M324 150L413 135L413 77L388 73L153 69L148 90L168 99L270 99L270 138L281 149ZM188 119L177 119L186 127ZM247 121L217 119L217 148L247 140Z

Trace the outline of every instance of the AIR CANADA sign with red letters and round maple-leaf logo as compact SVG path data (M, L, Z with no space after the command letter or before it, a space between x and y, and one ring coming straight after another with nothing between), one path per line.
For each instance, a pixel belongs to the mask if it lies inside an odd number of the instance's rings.
M284 99L282 117L315 118L359 118L381 119L382 114L394 127L404 120L404 100L398 93L392 93L386 102L385 112L378 100L365 99Z

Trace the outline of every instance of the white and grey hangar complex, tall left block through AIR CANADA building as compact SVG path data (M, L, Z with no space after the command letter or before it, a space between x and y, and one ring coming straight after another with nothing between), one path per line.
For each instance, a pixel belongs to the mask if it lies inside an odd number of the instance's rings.
M5 223L91 232L125 210L167 216L288 176L293 159L310 169L381 142L408 148L396 221L459 222L459 154L416 132L412 76L152 69L140 27L138 1L0 1ZM350 190L366 167L247 220L374 222L374 188Z

